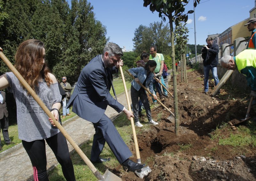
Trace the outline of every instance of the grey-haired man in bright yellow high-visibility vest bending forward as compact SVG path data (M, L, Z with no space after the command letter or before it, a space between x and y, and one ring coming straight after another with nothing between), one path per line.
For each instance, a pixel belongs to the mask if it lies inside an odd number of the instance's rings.
M226 55L220 59L220 66L228 70L237 69L246 76L248 86L251 86L251 96L256 97L256 50L244 50L236 56Z

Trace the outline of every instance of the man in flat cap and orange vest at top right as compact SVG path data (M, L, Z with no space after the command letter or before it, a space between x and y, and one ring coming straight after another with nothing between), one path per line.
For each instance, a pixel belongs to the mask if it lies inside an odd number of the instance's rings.
M248 31L252 32L246 49L256 49L256 18L251 18L244 26L247 26Z

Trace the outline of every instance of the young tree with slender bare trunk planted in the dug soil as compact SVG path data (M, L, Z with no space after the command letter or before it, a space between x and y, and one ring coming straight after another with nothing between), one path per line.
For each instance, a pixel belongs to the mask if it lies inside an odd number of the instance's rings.
M189 10L185 13L185 6L188 4L189 0L144 0L144 7L149 5L150 11L159 12L159 17L166 21L166 17L169 19L170 31L171 31L171 45L172 45L172 67L175 67L175 49L174 49L174 33L173 24L179 25L179 22L187 22L188 14L194 11ZM194 1L194 7L200 0ZM179 113L178 113L178 96L177 96L177 79L176 71L172 69L173 75L173 96L174 96L174 114L175 114L175 134L179 135Z

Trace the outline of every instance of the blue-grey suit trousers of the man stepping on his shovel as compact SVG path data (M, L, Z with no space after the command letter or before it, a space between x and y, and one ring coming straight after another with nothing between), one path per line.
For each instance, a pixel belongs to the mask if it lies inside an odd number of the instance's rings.
M132 152L106 114L103 114L100 121L93 123L93 126L95 128L95 134L93 135L92 141L91 161L96 161L99 158L105 142L107 142L120 164L132 156Z

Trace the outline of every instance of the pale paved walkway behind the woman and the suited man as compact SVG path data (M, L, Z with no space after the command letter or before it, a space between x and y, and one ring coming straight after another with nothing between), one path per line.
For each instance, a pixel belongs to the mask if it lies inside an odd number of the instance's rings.
M130 91L128 91L130 95ZM125 93L117 96L118 102L124 105L126 108L127 101ZM130 98L131 102L131 98ZM108 106L105 114L110 118L114 119L118 113L111 107ZM76 144L82 145L87 140L91 139L95 133L94 127L91 122L86 121L76 116L63 123L64 129L76 142ZM68 142L69 152L74 151L74 148ZM46 144L46 155L47 155L47 170L53 169L57 164L57 160L49 146ZM13 148L5 150L0 153L0 181L23 181L33 180L33 168L30 159L23 148L22 144L18 144Z

